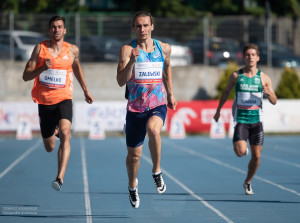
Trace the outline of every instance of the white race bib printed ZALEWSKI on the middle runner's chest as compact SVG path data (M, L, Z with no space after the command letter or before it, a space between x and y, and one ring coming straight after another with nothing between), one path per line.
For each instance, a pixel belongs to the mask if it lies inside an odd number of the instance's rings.
M135 83L157 84L162 81L163 62L135 63Z

